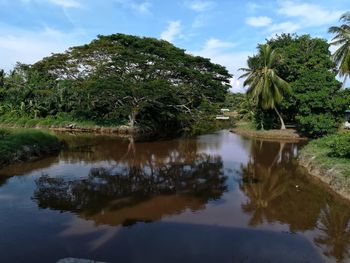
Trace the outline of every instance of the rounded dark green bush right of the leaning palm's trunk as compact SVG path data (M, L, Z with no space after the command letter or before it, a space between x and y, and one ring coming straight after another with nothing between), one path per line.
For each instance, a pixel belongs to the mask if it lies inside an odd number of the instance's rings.
M338 128L337 120L331 114L310 114L296 117L299 131L310 138L318 138L335 133Z

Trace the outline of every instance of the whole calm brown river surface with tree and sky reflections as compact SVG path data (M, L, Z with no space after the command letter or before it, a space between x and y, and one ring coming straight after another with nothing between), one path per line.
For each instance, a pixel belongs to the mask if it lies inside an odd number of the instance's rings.
M0 262L349 262L349 204L297 143L62 135L0 171Z

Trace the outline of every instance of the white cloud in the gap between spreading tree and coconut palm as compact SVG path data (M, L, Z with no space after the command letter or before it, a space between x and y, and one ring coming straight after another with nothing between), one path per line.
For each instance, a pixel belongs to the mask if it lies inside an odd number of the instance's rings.
M251 55L251 52L235 52L232 50L235 46L235 43L212 38L205 43L202 49L192 51L191 53L210 58L212 62L225 66L234 75L231 79L231 91L244 92L243 80L238 79L242 72L239 72L238 69L247 67L247 59Z

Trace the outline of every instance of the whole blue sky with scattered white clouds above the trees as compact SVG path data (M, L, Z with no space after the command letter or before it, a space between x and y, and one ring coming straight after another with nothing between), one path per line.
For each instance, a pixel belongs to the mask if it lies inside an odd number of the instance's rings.
M167 40L210 58L238 77L258 43L276 34L329 41L328 28L350 11L349 0L0 0L0 68L124 33Z

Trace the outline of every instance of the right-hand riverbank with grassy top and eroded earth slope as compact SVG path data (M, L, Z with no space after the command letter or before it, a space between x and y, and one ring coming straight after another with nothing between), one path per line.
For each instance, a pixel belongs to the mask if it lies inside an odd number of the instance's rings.
M350 200L350 160L331 156L333 137L311 141L301 150L298 161L312 176Z

